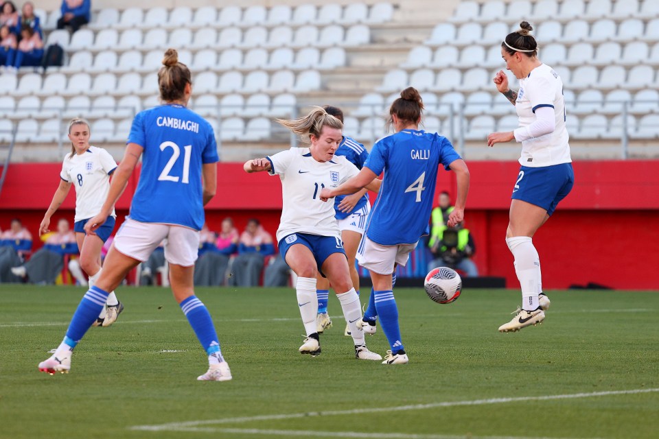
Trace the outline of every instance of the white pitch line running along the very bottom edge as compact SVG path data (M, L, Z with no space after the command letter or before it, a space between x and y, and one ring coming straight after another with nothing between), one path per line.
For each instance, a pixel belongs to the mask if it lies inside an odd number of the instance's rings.
M405 434L405 433L362 433L361 431L316 431L316 430L275 430L248 428L188 427L172 431L186 433L262 434L268 436L303 436L305 438L360 438L360 439L569 439L531 438L529 436L467 436L454 434ZM594 439L594 438L593 438Z

